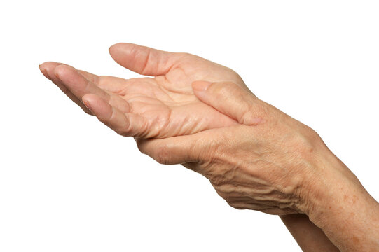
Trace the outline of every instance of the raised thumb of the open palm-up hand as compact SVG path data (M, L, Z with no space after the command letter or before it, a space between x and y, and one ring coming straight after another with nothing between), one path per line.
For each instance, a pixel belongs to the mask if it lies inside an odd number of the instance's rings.
M117 43L109 48L111 57L121 66L146 76L166 74L182 53L165 52L132 43Z

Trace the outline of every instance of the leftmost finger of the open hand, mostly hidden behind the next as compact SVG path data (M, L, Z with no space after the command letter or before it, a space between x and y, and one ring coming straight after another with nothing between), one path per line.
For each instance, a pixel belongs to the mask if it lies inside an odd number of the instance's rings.
M66 94L67 97L69 97L69 99L71 99L73 102L75 102L76 104L78 104L78 106L80 106L81 109L83 109L83 111L85 113L88 113L88 114L92 115L91 111L89 111L84 106L83 102L81 102L81 100L78 99L78 97L76 97L67 87L65 87L63 85L63 83L60 81L60 79L57 78L57 76L55 76L53 74L53 71L54 71L55 67L57 66L57 64L59 64L59 63L56 63L56 62L45 62L45 63L43 63L43 64L41 64L39 66L39 69L43 73L43 76L45 76L46 78L48 78L49 80L51 80L55 85L57 85L57 87L59 87L60 90L62 90L62 92L64 94Z

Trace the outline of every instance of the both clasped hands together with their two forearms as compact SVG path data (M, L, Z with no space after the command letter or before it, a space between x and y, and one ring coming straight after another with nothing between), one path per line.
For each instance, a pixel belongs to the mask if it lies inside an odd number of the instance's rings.
M154 77L96 76L57 62L40 69L86 113L135 137L142 153L206 176L232 207L279 215L303 251L379 250L378 202L316 132L255 97L237 73L128 43L109 52Z

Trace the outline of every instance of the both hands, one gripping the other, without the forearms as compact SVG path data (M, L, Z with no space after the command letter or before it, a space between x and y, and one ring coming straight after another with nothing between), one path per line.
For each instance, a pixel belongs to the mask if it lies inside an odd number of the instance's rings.
M206 176L230 206L268 214L309 209L322 143L309 127L257 99L231 69L186 53L113 45L111 57L153 78L96 76L57 62L46 78L118 134L163 164Z

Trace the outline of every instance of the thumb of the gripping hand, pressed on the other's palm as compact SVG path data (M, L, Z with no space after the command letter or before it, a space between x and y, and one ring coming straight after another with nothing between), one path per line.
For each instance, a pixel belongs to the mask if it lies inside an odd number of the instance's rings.
M200 101L238 123L257 125L263 121L266 111L263 102L233 82L210 83L198 80L192 83L192 89Z

